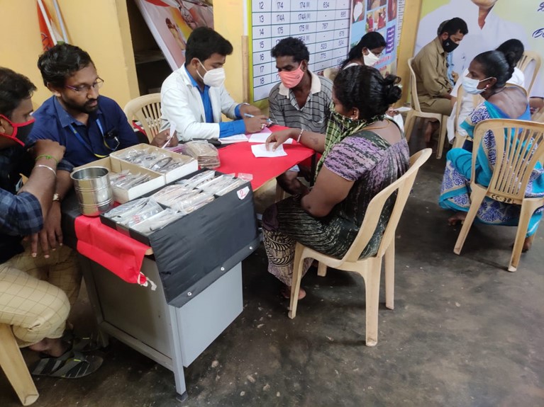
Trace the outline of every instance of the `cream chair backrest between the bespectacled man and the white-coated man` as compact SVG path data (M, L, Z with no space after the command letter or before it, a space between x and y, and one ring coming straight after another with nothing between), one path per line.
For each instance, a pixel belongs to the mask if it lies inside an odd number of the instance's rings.
M131 125L133 119L140 122L145 135L152 142L152 139L160 132L160 93L135 98L129 101L123 110Z

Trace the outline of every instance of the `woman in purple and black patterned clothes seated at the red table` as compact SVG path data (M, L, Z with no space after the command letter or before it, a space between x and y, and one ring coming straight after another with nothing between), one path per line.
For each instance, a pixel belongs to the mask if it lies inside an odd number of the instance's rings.
M328 256L342 258L353 243L372 197L402 176L409 167L406 139L394 122L385 119L389 105L399 100L400 79L385 78L372 67L340 71L333 84L333 106L326 135L290 134L322 153L316 183L304 196L296 195L265 210L262 231L268 271L284 283L289 298L294 248L299 241ZM272 134L273 148L289 137ZM392 202L384 209L374 236L361 257L376 253ZM308 270L311 259L306 259ZM299 299L306 292L301 289Z

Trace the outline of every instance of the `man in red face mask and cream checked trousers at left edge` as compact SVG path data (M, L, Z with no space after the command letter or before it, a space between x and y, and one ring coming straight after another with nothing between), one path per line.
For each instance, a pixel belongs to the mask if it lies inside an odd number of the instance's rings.
M64 367L68 377L81 377L83 370L96 370L101 359L87 369L89 360L65 353L69 345L62 333L81 282L75 255L63 247L35 258L21 245L23 236L43 229L55 202L56 171L66 169L65 148L57 142L39 140L30 151L23 147L34 124L33 91L26 76L0 67L0 323L12 327L19 345L64 355L52 365ZM20 173L28 176L22 186ZM38 278L40 271L47 271L48 281Z

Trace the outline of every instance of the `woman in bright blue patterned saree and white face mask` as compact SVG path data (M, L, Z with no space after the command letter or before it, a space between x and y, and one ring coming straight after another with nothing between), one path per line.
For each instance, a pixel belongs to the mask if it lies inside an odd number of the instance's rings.
M514 59L513 52L505 54L499 51L483 52L470 62L469 73L463 79L465 91L481 94L485 101L478 105L461 125L468 134L462 149L448 151L439 204L440 207L456 212L448 219L450 224L462 222L470 208L472 139L477 123L486 119L531 120L526 93L519 88L505 86L514 72ZM492 168L496 161L495 154L494 134L489 131L484 134L477 152L476 178L481 185L489 185L491 181ZM540 164L533 170L526 196L544 196L544 171ZM506 204L486 197L476 219L486 224L515 226L518 224L520 209L519 205ZM531 247L534 233L542 218L542 209L539 208L531 217L523 251Z

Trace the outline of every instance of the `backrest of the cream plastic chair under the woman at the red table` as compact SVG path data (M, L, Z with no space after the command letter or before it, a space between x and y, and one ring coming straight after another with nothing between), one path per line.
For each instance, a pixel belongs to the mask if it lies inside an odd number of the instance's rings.
M410 195L413 181L416 179L418 170L425 163L425 161L428 160L432 152L432 149L423 149L418 151L416 154L413 154L413 156L410 157L410 168L408 171L406 171L401 178L387 186L387 188L381 190L372 198L367 207L365 219L362 220L359 233L357 233L355 240L348 249L348 253L345 253L343 258L344 262L355 262L359 259L359 256L361 255L362 251L365 250L365 247L376 230L376 226L378 224L379 217L382 214L382 209L385 202L395 191L398 191L396 194L395 205L391 212L391 216L389 217L389 222L387 222L384 236L382 236L382 241L379 243L379 248L376 254L377 257L384 255L392 239L394 239L396 226L399 224L399 219L401 219L404 205L406 205L406 201Z

